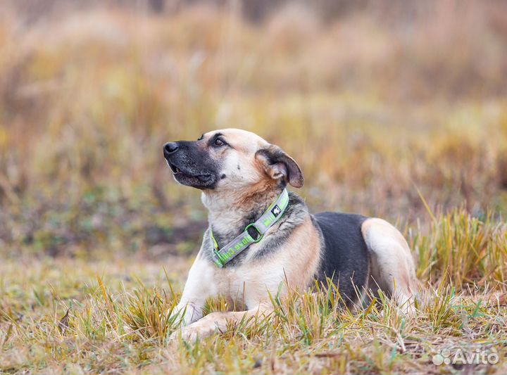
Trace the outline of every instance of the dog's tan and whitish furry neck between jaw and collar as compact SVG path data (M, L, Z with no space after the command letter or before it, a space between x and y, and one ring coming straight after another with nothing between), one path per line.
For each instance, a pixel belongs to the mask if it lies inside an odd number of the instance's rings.
M255 222L282 193L283 186L245 191L203 192L202 203L208 208L208 222L220 246L232 241Z

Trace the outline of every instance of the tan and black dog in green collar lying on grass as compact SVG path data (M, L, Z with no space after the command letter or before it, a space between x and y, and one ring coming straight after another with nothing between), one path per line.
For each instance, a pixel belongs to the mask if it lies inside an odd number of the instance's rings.
M287 185L303 186L303 172L282 148L241 129L169 142L163 155L182 185L201 190L209 226L171 312L182 328L172 338L203 338L227 324L268 316L270 295L306 291L331 279L344 305L382 291L406 312L414 309L417 279L403 235L379 218L339 212L312 215ZM206 299L242 301L243 312L212 312Z

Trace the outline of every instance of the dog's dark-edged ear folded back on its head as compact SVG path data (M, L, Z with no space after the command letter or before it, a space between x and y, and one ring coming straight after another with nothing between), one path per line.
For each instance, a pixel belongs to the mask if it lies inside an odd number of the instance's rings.
M303 186L303 172L297 163L282 148L270 145L256 152L256 160L272 179L284 179L294 187Z

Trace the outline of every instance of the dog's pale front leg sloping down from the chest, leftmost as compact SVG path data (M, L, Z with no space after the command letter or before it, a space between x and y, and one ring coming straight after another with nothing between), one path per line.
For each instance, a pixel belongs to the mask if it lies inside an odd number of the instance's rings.
M171 312L170 317L180 317L182 325L187 326L201 319L206 298L215 295L216 286L213 283L213 265L197 255L190 268L180 303Z

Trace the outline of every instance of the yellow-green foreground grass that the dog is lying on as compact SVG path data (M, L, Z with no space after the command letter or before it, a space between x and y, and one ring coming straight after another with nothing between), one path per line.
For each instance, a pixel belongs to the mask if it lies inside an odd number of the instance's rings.
M177 303L189 260L4 262L0 266L0 371L17 374L225 374L358 371L444 374L432 356L496 352L507 369L507 228L456 210L437 215L427 235L411 231L423 288L418 313L388 298L349 312L330 291L273 296L274 312L196 343L168 342L176 322L161 313ZM23 272L20 273L20 264ZM221 298L206 312L226 310ZM464 369L456 365L454 369ZM454 370L452 370L454 371Z

